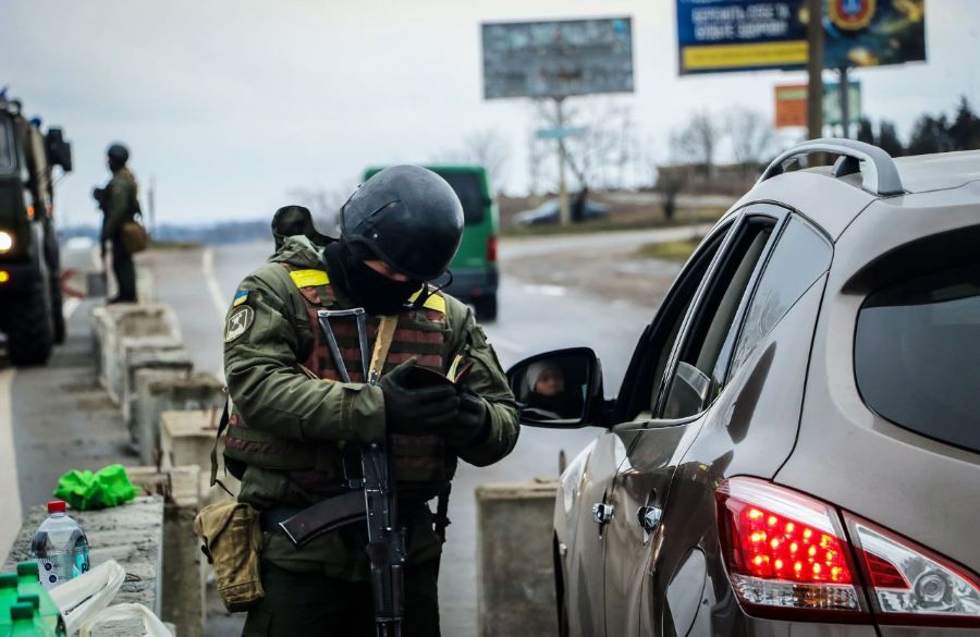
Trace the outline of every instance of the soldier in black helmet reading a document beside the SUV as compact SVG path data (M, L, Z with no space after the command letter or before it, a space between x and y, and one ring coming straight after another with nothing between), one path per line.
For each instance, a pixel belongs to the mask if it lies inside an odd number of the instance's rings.
M359 445L384 437L407 528L402 630L438 635L441 531L457 458L486 466L517 441L516 403L483 330L431 284L463 232L450 185L419 167L388 168L352 195L340 225L336 241L284 237L242 282L226 318L225 466L264 531L265 597L249 609L245 636L375 635L364 525L297 549L278 524L342 493ZM348 383L319 331L318 309L353 307L366 310L370 340L380 317L397 317L378 384L364 383L353 320L332 321ZM452 376L463 365L471 365L464 387L406 381L413 367Z

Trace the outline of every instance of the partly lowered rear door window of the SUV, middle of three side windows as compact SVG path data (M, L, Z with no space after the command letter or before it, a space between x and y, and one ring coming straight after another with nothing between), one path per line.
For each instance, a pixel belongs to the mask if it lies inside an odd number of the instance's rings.
M750 217L736 230L684 335L665 394L663 418L699 414L721 391L738 308L775 224L776 220L770 217Z

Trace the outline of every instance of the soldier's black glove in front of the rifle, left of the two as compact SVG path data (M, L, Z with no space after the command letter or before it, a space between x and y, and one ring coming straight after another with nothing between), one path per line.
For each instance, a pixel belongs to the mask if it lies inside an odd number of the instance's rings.
M384 393L384 414L389 433L425 436L454 422L460 414L460 397L451 384L406 389L404 377L415 367L415 358L402 363L378 381Z

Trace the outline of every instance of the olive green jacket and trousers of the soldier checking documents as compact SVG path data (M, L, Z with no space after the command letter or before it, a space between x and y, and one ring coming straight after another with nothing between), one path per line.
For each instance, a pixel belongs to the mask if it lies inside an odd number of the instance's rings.
M233 418L241 417L250 430L316 450L318 475L326 477L328 483L332 479L340 482L344 454L356 449L357 443L384 436L384 397L375 385L324 382L305 373L301 366L314 347L314 330L320 328L310 324L306 302L298 283L291 280L290 270L326 270L322 253L306 237L287 237L269 262L242 282L229 310L224 364L234 404ZM352 302L335 287L334 293L338 307L352 307ZM441 296L446 340L454 345L446 356L446 368L450 358L457 355L465 358L464 364L473 362L467 384L486 402L489 420L483 440L469 449L453 451L473 465L489 465L510 453L517 441L516 403L497 356L469 308L449 295ZM375 320L368 317L369 323ZM283 509L309 506L329 494L322 488L310 488L295 473L261 464L244 467L238 499L270 515ZM408 544L405 635L438 634L434 577L441 540L432 528L432 515L425 503L400 499L400 507L402 522L407 526ZM282 616L283 612L303 614L301 607L319 608L326 613L322 620L327 622L331 621L330 612L350 615L356 600L348 601L350 596L340 595L341 591L354 591L356 598L367 596L367 601L362 603L367 603L369 614L368 564L362 525L324 534L302 549L294 548L273 525L266 527L269 530L264 534L262 568L272 590L267 586L266 599L249 612L246 635L278 635L289 630L301 634L308 624L289 623L301 622L298 616ZM319 584L310 588L310 579ZM285 590L301 586L310 592L309 599L303 598L298 589ZM331 596L333 601L328 603L321 595ZM422 607L431 610L422 612ZM289 608L296 611L284 611ZM426 623L421 626L416 622L417 630L413 629L414 613Z

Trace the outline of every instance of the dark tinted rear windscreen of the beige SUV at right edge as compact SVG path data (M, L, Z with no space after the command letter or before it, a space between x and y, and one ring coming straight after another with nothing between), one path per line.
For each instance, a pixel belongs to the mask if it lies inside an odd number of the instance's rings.
M893 284L858 315L855 373L869 407L980 452L980 265Z

